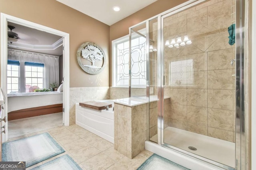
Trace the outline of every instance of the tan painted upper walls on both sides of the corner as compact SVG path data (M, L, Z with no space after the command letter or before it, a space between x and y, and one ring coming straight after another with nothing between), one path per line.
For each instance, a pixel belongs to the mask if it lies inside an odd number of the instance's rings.
M158 0L110 27L54 0L0 0L0 12L70 34L70 87L112 86L111 42L127 35L128 28L187 0ZM103 72L90 75L76 61L76 50L92 41L104 50L108 63Z

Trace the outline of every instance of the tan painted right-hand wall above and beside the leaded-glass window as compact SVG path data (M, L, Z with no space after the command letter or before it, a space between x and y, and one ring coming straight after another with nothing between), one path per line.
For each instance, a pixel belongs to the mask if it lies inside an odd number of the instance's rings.
M129 27L136 25L137 23L140 23L144 20L147 20L148 18L151 18L153 16L156 16L166 10L169 10L170 8L173 8L174 6L177 6L179 4L182 4L183 2L186 2L188 0L158 0L149 6L146 6L142 10L139 10L138 12L135 12L134 14L124 18L121 21L118 21L110 26L110 56L112 56L112 41L114 39L123 37L125 35L129 34ZM110 86L112 86L112 60L110 57L109 60L109 75L110 75Z

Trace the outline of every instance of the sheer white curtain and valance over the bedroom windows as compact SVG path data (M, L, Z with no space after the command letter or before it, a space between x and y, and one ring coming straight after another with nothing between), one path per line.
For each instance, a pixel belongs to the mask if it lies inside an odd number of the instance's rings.
M60 82L59 56L8 49L8 60L43 63L44 88L50 88L50 84Z

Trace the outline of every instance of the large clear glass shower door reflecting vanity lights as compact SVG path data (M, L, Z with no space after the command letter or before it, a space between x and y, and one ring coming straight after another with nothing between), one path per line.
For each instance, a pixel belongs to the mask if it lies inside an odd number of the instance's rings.
M226 169L236 168L234 17L234 0L210 0L161 18L161 144Z

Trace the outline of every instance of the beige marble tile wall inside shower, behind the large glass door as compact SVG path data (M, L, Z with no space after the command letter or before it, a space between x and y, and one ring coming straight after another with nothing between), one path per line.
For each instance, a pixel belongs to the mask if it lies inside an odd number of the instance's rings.
M165 47L164 91L171 97L168 125L234 142L236 84L230 61L235 44L228 43L232 5L232 0L210 0L164 19L164 41L177 35L192 40L180 48ZM192 69L174 72L171 63L176 61Z

